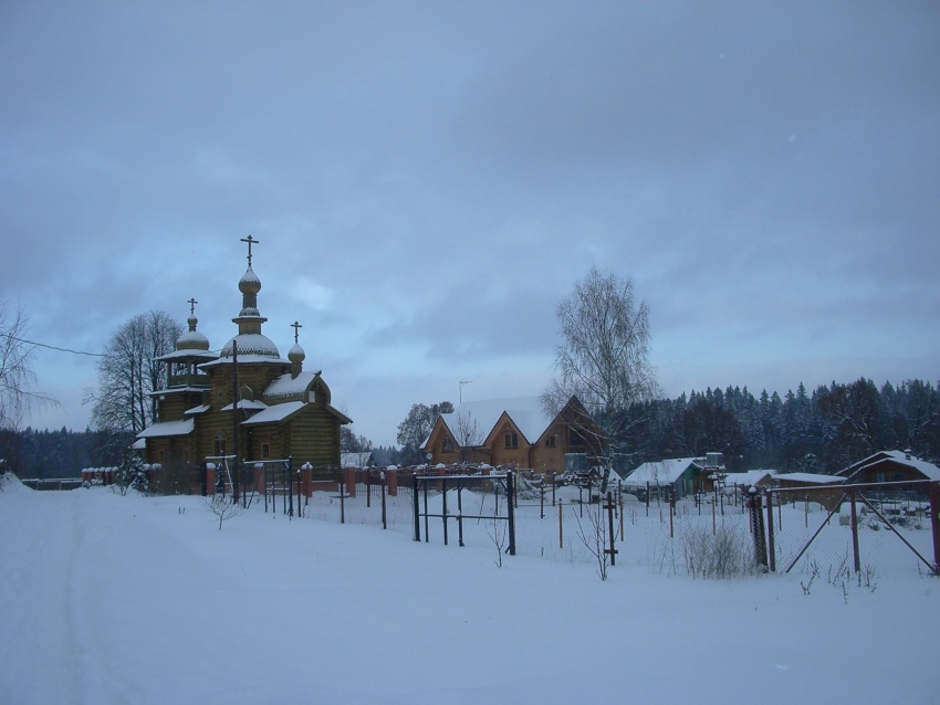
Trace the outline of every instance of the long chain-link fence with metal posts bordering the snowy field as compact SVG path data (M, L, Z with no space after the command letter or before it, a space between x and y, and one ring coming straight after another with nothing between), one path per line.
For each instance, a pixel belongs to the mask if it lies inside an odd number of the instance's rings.
M755 514L740 487L683 497L660 487L638 497L612 486L608 505L596 486L561 485L530 473L513 473L510 495L499 482L434 482L466 474L466 467L396 469L387 478L382 470L304 474L279 461L246 464L243 472L240 484L257 508L296 518L369 525L410 538L418 520L422 541L447 537L448 544L491 547L501 556L509 551L512 530L516 555L598 567L645 566L667 575L744 575L763 569L755 558L777 572L925 575L936 570L940 541L940 499L931 504L931 492L940 496L940 483L761 492L765 504L756 516L763 526L755 541ZM429 480L417 508L416 473ZM203 475L189 467L164 485L198 494ZM223 485L230 492L227 477ZM510 502L513 526L505 520Z

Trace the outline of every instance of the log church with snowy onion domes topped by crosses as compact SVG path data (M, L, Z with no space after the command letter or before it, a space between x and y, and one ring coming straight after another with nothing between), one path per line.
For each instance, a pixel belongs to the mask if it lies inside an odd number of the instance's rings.
M262 332L268 319L258 311L261 280L251 269L238 283L241 311L232 323L238 335L220 352L196 330L196 301L190 299L189 330L176 350L159 359L168 366L166 389L157 398L157 421L137 439L145 460L161 467L197 465L209 457L237 455L240 462L292 459L294 466L340 467L340 429L352 423L331 406L321 371L303 369L305 352L294 345L288 358Z

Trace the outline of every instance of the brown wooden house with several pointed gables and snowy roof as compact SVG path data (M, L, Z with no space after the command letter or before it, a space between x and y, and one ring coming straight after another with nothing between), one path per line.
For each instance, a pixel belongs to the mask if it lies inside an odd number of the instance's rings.
M562 473L567 454L591 453L582 432L586 422L576 397L555 414L539 397L469 401L438 417L421 450L432 465L487 463Z

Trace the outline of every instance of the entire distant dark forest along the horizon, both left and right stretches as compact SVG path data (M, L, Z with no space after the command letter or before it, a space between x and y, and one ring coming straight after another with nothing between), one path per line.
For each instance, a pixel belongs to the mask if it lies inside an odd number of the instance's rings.
M620 439L625 464L724 453L730 470L773 469L834 473L879 450L910 450L940 461L940 391L929 382L870 379L801 383L783 397L746 387L692 391L634 404ZM77 476L83 467L117 465L130 436L96 431L0 431L0 459L21 477ZM343 450L373 450L376 463L401 464L396 448L344 439ZM405 463L407 464L407 463Z

